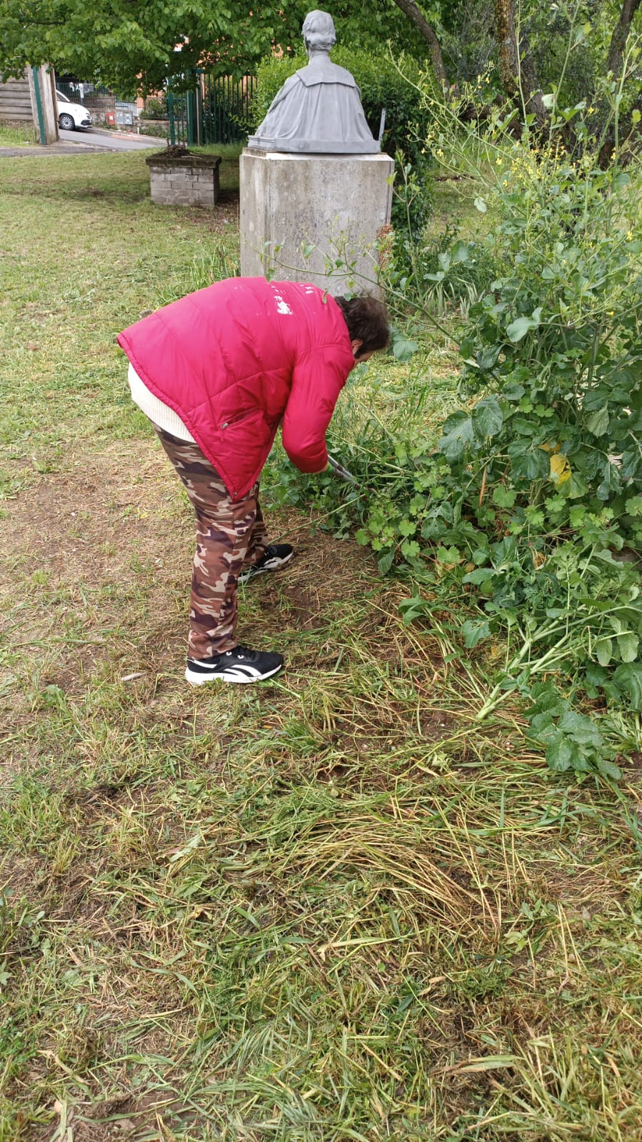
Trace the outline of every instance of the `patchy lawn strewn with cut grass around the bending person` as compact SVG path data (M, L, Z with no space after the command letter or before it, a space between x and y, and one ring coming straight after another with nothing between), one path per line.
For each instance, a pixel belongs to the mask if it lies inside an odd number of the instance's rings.
M192 521L114 337L233 265L235 201L0 161L0 1142L642 1140L639 770L476 724L488 660L312 512L241 601L287 671L190 690Z

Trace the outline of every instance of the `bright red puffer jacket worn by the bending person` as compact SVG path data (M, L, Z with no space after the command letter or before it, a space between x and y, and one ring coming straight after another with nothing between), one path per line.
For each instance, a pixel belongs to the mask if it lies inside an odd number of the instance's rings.
M322 289L231 278L157 309L118 341L232 499L256 483L281 418L292 464L326 467L326 429L354 356L343 313Z

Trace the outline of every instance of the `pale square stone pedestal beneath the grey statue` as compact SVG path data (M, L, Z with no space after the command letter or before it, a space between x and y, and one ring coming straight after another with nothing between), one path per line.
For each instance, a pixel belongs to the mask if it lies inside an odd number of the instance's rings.
M376 292L376 242L391 217L387 154L241 155L241 274L267 271L331 292ZM307 255L307 256L306 256ZM327 258L344 266L328 271ZM354 268L352 265L354 263ZM347 268L346 268L347 266Z

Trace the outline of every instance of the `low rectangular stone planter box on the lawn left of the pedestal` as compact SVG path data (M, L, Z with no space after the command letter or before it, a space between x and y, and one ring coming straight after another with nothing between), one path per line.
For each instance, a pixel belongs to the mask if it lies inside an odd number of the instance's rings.
M152 202L168 207L214 207L218 200L217 154L191 154L167 147L145 159Z

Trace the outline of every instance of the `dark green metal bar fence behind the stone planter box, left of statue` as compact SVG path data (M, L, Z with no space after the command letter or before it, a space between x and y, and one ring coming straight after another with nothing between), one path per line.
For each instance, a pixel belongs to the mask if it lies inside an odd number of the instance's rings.
M234 80L228 75L209 75L199 71L192 90L175 91L176 83L175 79L167 89L170 143L194 146L244 140L254 75Z

